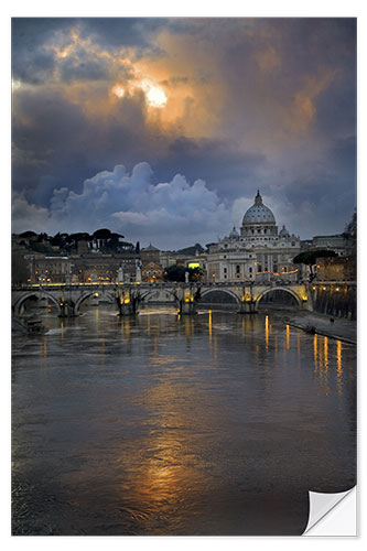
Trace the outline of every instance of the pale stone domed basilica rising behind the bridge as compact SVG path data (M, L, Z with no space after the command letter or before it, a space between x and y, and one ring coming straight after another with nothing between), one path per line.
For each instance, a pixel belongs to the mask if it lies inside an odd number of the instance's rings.
M285 226L278 231L273 213L258 191L253 205L245 213L240 233L234 227L218 240L207 258L209 281L271 281L298 279L293 258L301 251L300 237Z

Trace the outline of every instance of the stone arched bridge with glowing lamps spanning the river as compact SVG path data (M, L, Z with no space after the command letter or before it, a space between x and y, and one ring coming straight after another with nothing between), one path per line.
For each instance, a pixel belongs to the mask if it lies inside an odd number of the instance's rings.
M307 287L304 283L277 285L271 283L47 283L28 284L12 289L12 311L21 315L26 301L37 299L55 304L61 317L76 316L87 300L115 303L119 315L133 315L141 303L173 303L182 314L196 312L198 303L209 300L213 292L226 293L238 305L239 313L255 313L263 296L284 291L300 309L306 307Z

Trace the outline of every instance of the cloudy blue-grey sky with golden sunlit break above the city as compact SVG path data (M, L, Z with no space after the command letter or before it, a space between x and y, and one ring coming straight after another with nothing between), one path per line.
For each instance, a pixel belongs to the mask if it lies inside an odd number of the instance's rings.
M356 206L354 19L13 19L12 230L302 239Z

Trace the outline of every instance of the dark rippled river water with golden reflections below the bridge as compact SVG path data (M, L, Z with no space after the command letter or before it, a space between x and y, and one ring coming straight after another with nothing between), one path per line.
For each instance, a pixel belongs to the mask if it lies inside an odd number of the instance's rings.
M224 307L13 336L13 534L301 534L353 487L354 346Z

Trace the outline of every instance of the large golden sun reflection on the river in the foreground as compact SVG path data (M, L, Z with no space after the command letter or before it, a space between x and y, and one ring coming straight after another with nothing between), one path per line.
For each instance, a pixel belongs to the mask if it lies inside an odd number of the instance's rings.
M175 365L181 358L170 356L169 360ZM140 398L144 408L151 410L154 422L139 467L136 457L125 454L119 457L125 469L131 473L128 486L132 489L129 500L133 515L149 517L158 511L164 515L165 508L187 498L193 488L205 487L203 473L207 464L197 453L201 441L187 440L190 429L194 425L199 429L205 418L204 406L195 399L197 390L190 382L177 385L170 379L168 374L163 382L148 389ZM125 487L126 480L120 486L121 495L125 495Z

